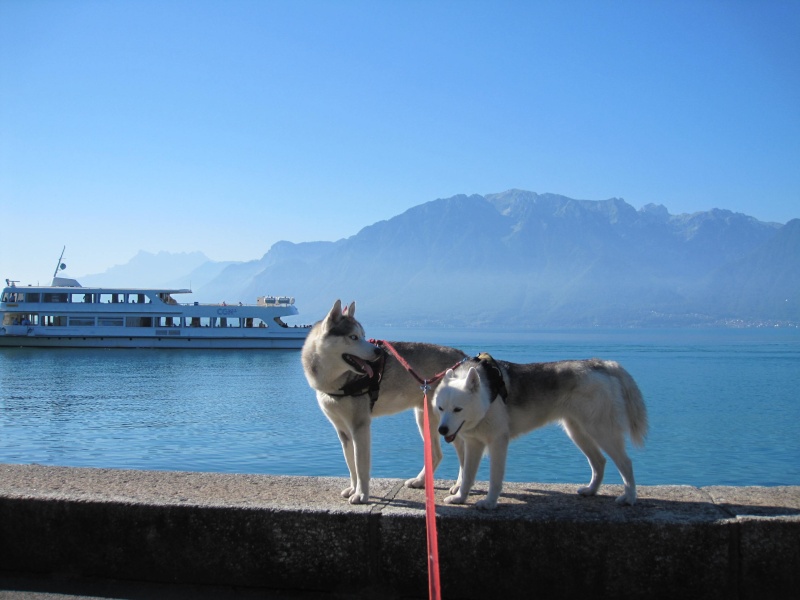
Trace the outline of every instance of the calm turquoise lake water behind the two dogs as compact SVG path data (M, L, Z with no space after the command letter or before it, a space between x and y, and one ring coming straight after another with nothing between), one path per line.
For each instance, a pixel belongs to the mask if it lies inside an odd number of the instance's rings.
M800 484L800 331L376 330L385 339L515 362L621 362L650 414L637 482ZM298 351L0 349L0 462L346 476ZM488 477L484 460L481 479ZM373 475L422 465L410 412L373 423ZM458 466L447 447L437 477ZM557 427L512 443L507 479L579 483L583 455ZM619 483L609 463L606 481Z

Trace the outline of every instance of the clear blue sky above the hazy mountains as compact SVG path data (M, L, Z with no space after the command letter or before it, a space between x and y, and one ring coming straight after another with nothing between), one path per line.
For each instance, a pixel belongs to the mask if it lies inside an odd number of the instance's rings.
M510 188L800 217L800 1L0 0L0 277Z

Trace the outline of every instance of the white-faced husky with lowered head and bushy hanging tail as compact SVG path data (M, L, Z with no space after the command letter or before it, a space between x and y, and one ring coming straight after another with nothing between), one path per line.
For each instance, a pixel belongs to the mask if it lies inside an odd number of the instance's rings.
M492 509L503 487L508 443L523 433L560 421L592 468L591 496L603 481L607 453L625 485L617 502L636 502L633 464L625 452L625 434L643 445L647 409L630 374L616 362L599 359L515 364L488 354L448 369L433 396L439 433L455 444L461 463L459 480L444 501L463 504L475 483L485 449L489 451L489 493L476 503Z

